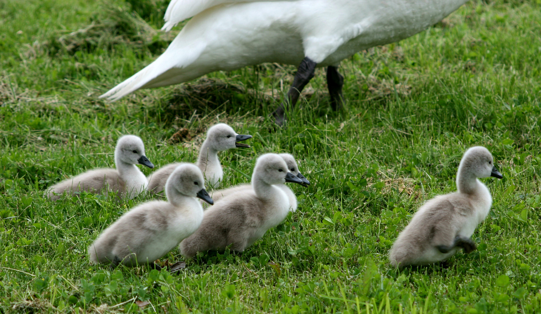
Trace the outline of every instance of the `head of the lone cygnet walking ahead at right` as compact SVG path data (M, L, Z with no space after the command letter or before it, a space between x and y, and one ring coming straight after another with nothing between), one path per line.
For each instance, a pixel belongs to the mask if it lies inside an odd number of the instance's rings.
M494 167L492 154L483 146L474 146L464 153L458 166L458 173L461 176L474 176L475 178L487 178L488 176L503 178L502 174Z

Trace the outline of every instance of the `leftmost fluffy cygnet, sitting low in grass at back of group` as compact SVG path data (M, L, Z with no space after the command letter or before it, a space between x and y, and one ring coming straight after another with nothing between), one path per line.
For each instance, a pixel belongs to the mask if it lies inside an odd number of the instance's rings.
M154 168L154 165L144 155L144 144L135 135L124 135L116 143L116 169L102 168L87 171L73 178L66 179L48 189L46 196L51 200L62 197L64 192L75 194L81 191L100 193L118 192L123 197L133 199L148 185L146 176L141 172L137 163Z

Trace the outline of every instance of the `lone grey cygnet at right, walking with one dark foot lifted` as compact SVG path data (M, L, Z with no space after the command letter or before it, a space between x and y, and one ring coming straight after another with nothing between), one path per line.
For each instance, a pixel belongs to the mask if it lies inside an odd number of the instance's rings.
M468 149L458 166L458 192L439 195L419 208L391 248L391 265L432 264L460 248L465 253L476 250L471 236L492 205L489 189L477 178L487 176L503 178L492 154L481 146Z

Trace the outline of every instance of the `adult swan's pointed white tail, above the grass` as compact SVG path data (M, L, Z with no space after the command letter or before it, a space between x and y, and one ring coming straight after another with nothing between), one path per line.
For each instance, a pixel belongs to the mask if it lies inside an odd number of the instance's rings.
M111 88L100 98L115 101L140 88L152 88L177 84L192 80L202 74L186 73L185 68L201 55L206 47L204 42L184 40L179 34L167 50L153 63L138 71L126 81ZM203 73L204 74L204 73Z

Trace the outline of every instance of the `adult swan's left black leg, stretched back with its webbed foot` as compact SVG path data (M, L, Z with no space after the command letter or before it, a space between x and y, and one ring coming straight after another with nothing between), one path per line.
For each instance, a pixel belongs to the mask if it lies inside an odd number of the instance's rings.
M280 107L276 108L276 110L273 112L277 125L283 125L283 122L286 120L285 112L287 104L291 104L291 108L295 107L295 103L299 100L302 89L306 86L306 84L308 84L312 77L314 77L316 65L317 63L310 60L308 57L302 59L301 64L297 69L297 73L295 73L295 77L293 78L293 84L287 92L286 99L282 101Z

